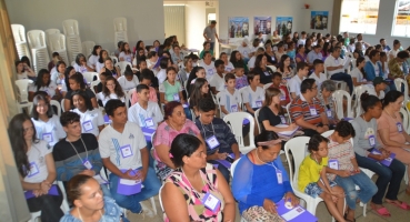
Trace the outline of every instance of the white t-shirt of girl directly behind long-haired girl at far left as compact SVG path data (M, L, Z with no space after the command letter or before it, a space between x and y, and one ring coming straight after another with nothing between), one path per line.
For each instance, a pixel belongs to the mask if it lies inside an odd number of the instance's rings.
M34 120L33 118L31 118L31 120L34 123L37 138L47 141L50 147L53 147L60 139L66 138L66 132L62 130L60 118L56 114L53 114L47 122L43 122L40 119Z

